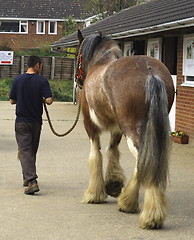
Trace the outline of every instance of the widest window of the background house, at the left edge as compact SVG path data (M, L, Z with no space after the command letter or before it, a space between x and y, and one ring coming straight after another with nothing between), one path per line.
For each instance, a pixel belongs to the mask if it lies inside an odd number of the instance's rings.
M1 33L28 33L28 21L0 21Z

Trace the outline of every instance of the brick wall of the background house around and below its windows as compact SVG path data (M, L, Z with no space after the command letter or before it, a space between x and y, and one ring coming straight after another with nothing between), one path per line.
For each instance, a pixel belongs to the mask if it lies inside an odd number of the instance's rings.
M28 21L28 34L0 33L0 45L8 45L14 51L37 48L51 44L62 37L63 22L57 23L57 35L48 34L48 21L45 22L45 34L36 34L36 21Z

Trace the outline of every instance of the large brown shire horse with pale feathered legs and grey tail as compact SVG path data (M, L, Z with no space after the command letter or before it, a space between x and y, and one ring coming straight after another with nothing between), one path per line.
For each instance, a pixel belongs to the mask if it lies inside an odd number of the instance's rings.
M165 189L168 180L169 118L174 86L168 69L159 60L136 55L122 57L116 41L94 33L83 38L78 31L78 80L83 81L82 113L89 136L90 180L84 203L118 197L119 210L139 212L140 227L157 229L167 215ZM103 176L100 134L110 132L107 170ZM119 163L122 136L136 159L129 183Z

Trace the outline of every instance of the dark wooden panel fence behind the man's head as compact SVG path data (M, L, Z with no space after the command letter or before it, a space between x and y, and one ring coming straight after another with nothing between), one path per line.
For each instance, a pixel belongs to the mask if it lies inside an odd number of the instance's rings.
M68 79L74 78L74 59L62 57L41 57L43 62L42 75L47 79ZM27 56L14 57L13 65L0 65L0 79L14 78L27 70Z

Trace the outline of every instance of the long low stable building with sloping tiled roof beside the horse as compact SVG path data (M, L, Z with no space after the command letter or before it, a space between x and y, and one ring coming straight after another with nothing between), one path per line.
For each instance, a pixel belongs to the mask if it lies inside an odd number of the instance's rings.
M124 55L147 54L169 69L176 88L170 112L172 130L194 142L194 1L155 0L125 9L85 29L101 31L119 42ZM77 33L61 38L53 49L78 44Z

